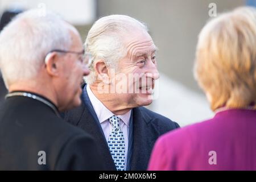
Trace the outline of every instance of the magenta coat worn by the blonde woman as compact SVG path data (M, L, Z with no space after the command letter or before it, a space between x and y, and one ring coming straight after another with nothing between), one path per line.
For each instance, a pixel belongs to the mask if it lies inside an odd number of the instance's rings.
M163 135L148 170L256 170L256 111L220 111Z

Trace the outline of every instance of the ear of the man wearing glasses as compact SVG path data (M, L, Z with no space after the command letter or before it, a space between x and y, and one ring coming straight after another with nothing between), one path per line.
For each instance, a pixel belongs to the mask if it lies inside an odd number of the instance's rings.
M46 59L44 60L46 64L46 70L51 76L59 75L59 60L56 52L48 53Z

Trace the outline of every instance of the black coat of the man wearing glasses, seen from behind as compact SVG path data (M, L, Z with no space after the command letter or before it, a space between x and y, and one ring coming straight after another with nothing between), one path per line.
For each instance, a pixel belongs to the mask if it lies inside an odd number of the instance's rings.
M40 158L46 154L46 164ZM40 159L39 159L40 158ZM93 138L38 100L15 96L0 109L1 170L102 169Z

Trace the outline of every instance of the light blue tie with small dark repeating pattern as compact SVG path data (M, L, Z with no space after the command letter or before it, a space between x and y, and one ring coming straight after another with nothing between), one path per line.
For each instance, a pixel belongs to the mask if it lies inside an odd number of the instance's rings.
M115 115L109 118L109 122L113 126L112 132L109 136L108 145L112 158L117 167L117 171L125 170L125 138L119 126L120 118Z

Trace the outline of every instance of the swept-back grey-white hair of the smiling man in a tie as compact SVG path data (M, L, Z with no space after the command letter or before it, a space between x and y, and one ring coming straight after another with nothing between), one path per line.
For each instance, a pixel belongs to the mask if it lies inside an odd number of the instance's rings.
M144 23L126 15L105 16L93 24L85 41L85 51L92 54L93 60L89 65L90 75L85 77L89 85L96 81L95 61L102 59L107 67L117 69L118 60L127 54L123 36L138 28L148 32Z

